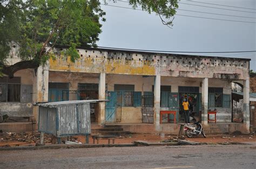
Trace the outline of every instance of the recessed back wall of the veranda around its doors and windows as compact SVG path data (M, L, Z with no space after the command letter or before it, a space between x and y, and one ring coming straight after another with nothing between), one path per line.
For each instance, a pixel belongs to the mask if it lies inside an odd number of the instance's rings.
M230 80L209 79L208 81L209 87L223 87L224 94L231 94ZM70 83L70 90L77 90L78 83L98 83L99 74L50 71L49 82L68 82ZM161 77L161 85L171 86L173 93L178 93L178 86L199 87L199 93L201 93L201 82L202 79L200 78ZM114 84L134 85L135 91L152 91L154 76L106 74L106 84L108 91L114 90ZM231 122L231 108L217 108L217 110L218 122ZM122 123L139 123L141 121L141 107L122 108Z

